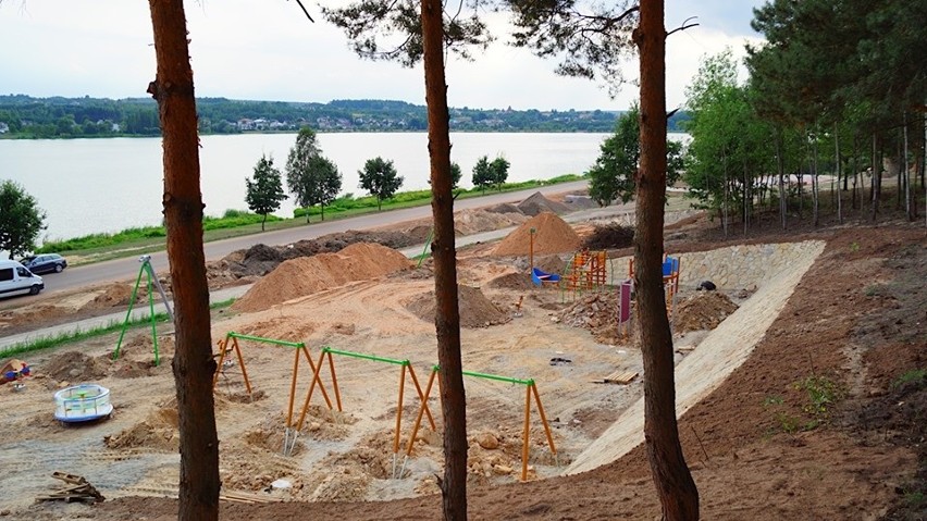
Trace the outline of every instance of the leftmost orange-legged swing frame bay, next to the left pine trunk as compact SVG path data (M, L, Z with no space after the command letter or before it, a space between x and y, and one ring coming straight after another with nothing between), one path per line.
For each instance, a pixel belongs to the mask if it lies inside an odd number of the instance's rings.
M293 449L296 447L296 438L299 435L299 427L293 429L293 404L296 399L296 379L299 374L299 355L301 353L306 361L309 362L309 368L312 370L312 384L310 386L310 394L312 387L316 386L316 383L319 383L319 388L322 392L322 396L325 398L325 402L329 404L329 408L332 408L332 401L329 399L329 394L325 392L325 387L322 385L322 382L319 380L319 371L316 369L316 363L312 361L312 357L309 356L309 350L306 349L306 344L302 342L286 342L286 340L277 340L274 338L263 338L260 336L251 336L251 335L242 335L235 332L228 332L225 335L225 338L219 340L219 362L217 363L217 371L212 375L212 388L215 388L215 384L219 381L219 374L222 372L223 364L225 362L225 356L231 351L235 351L235 355L238 358L238 365L242 369L242 376L245 379L245 388L248 390L248 394L251 394L251 383L248 380L248 371L245 369L245 358L242 356L242 348L238 345L238 340L250 340L258 342L264 344L273 344L276 346L284 347L293 347L295 348L294 357L293 357L293 379L289 384L289 406L286 410L286 425L283 432L283 455L289 456L293 454ZM231 347L230 347L231 342ZM321 361L320 361L321 363ZM341 409L341 407L338 407ZM305 415L305 412L304 412ZM299 426L302 426L302 418L299 419Z

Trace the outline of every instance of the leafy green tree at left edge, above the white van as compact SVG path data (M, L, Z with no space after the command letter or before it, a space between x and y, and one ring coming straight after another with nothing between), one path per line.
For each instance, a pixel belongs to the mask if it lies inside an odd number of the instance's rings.
M30 251L45 228L45 212L36 199L12 181L0 184L0 250L9 251L11 259Z

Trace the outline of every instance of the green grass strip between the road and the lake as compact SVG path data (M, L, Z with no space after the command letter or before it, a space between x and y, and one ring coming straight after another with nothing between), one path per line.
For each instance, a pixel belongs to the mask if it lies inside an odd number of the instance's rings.
M561 175L547 181L528 181L523 183L507 183L499 189L489 190L486 194L499 191L516 191L534 187L547 186L558 183L569 183L582 179L579 175ZM458 199L483 196L479 188L458 190ZM399 210L429 204L431 202L431 190L401 191L393 198L383 201L383 211ZM311 207L309 219L313 222L321 220L321 208ZM334 221L376 212L375 197L354 198L348 195L335 199L325 209L325 220ZM293 219L282 219L268 215L267 231L292 228L306 225L306 209L297 209ZM207 216L203 219L203 240L221 240L244 235L261 233L261 221L258 214L238 210L226 210L221 218ZM37 253L55 252L67 257L72 265L87 264L109 259L132 257L139 253L149 253L164 249L164 226L145 226L124 230L113 234L92 234L66 240L49 240L36 250Z

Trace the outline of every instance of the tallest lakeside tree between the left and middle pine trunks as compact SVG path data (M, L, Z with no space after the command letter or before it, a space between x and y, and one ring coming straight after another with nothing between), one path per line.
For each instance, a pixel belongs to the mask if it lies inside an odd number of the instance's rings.
M319 204L322 221L325 220L325 206L335 200L342 189L342 175L337 166L322 156L316 133L308 126L299 129L296 145L289 149L286 158L286 186L299 208L308 209ZM308 211L306 222L309 222Z

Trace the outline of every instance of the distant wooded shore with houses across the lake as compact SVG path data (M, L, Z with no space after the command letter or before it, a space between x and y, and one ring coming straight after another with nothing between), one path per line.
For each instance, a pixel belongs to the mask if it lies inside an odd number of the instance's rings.
M424 106L394 100L327 103L197 99L201 134L296 132L424 132ZM455 132L610 133L622 111L450 109ZM688 114L668 121L670 132ZM160 135L158 110L147 98L33 98L0 96L0 138L47 139Z

